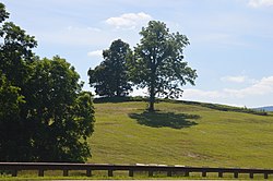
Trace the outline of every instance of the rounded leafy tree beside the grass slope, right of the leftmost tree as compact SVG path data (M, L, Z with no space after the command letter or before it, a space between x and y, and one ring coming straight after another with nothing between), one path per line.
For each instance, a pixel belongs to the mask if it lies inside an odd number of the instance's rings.
M92 95L81 90L79 74L60 57L35 61L33 69L26 105L35 160L85 161L95 120Z

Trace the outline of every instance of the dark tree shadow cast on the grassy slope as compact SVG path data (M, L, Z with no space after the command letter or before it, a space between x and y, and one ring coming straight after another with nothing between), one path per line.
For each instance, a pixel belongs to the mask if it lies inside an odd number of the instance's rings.
M171 128L171 129L183 129L198 123L191 120L200 118L198 114L188 113L175 113L175 112L149 112L142 113L130 113L130 118L135 119L139 124L147 125L152 128Z

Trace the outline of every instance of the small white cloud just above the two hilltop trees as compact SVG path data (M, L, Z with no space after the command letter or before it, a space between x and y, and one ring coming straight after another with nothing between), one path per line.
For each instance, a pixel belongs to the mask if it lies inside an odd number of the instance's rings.
M146 24L152 16L150 14L140 13L127 13L117 17L109 17L106 23L115 26L116 28L135 28Z

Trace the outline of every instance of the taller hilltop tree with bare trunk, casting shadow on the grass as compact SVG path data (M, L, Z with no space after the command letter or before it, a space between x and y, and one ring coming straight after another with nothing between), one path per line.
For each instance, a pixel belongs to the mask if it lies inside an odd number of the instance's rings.
M183 61L183 48L189 45L187 36L169 33L166 24L157 21L149 22L140 35L130 62L131 79L138 87L147 87L149 110L154 111L156 96L178 98L183 92L180 86L194 85L198 75Z

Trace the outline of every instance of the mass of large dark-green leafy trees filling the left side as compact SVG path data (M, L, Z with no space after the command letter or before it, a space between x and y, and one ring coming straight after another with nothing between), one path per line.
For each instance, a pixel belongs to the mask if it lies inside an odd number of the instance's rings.
M8 17L0 3L0 161L85 161L92 94L64 59L37 57L35 38Z

